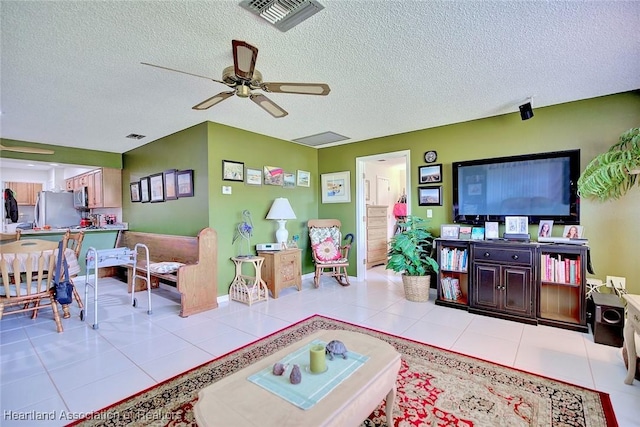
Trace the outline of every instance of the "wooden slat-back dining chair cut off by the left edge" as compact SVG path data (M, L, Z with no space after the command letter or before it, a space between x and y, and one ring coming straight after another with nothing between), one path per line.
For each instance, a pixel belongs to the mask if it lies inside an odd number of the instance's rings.
M62 322L51 288L52 278L47 272L55 269L54 250L36 250L32 247L15 247L14 252L0 254L0 319L3 315L38 311L51 307L56 330L62 332Z

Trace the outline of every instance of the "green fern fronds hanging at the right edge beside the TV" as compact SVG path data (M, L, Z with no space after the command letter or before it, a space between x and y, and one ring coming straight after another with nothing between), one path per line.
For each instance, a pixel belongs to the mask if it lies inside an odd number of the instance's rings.
M636 183L640 185L640 128L629 129L617 143L596 156L587 165L580 179L578 192L601 201L618 199Z

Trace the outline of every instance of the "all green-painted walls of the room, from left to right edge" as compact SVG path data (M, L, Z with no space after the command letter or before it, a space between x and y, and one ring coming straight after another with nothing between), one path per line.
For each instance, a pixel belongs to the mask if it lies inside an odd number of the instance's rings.
M433 210L431 225L436 234L442 223L451 222L451 163L453 161L508 156L580 148L582 168L596 154L606 151L619 135L640 125L640 92L588 99L545 108L535 108L535 116L520 120L517 112L497 117L425 129L316 150L264 135L219 125L202 123L161 138L123 155L59 146L2 140L6 145L33 145L51 148L52 156L9 153L9 158L57 161L104 167L124 167L123 218L133 230L166 234L195 235L203 227L218 232L218 293L226 295L233 279L230 257L237 254L231 243L244 209L252 213L252 245L273 242L277 224L264 217L276 197L287 197L298 217L288 221L289 234L298 234L303 252L303 273L313 271L305 223L311 218L338 218L343 229L356 230L355 159L392 151L411 151L412 213L426 216L426 207L417 205L418 166L424 165L427 150L438 151L443 164L443 206ZM291 189L250 186L222 180L222 160L244 162L245 167L262 169L279 166L287 172L311 173L311 186ZM193 169L195 197L164 203L131 203L129 182L166 169ZM320 174L351 171L352 202L322 204L319 201ZM222 194L222 186L232 189ZM637 266L637 236L640 218L640 191L618 201L600 203L582 199L581 224L589 238L595 277L625 276L632 293L640 293ZM533 228L533 227L532 227ZM559 229L554 230L559 235ZM532 233L535 230L532 230ZM236 245L237 246L237 245ZM354 248L356 250L357 248ZM356 259L352 253L351 259ZM355 274L352 263L350 274Z

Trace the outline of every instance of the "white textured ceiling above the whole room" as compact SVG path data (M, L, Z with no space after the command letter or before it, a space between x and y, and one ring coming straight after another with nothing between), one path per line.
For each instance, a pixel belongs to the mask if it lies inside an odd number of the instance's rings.
M3 0L0 135L122 153L212 121L349 143L640 88L638 1L320 2L283 33L239 0ZM331 93L269 94L281 119L238 97L195 111L228 89L140 65L220 79L232 39L265 81Z

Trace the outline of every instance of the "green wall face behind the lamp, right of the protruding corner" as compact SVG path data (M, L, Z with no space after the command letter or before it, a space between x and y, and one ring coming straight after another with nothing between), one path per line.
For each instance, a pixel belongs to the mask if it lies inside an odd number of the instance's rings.
M318 217L317 150L257 133L208 123L209 127L209 223L218 232L218 293L227 294L235 267L230 258L239 254L239 244L232 245L242 211L251 212L254 226L251 245L275 242L277 223L265 219L273 200L286 197L297 219L287 221L289 238L300 236L303 274L313 271L311 253L307 250L306 222ZM310 187L284 188L273 185L248 185L222 179L222 160L243 162L245 168L260 169L277 166L285 172L298 170L311 173ZM222 186L231 187L231 194L222 194ZM249 272L246 272L249 273ZM251 273L252 274L252 273Z

